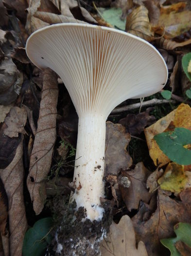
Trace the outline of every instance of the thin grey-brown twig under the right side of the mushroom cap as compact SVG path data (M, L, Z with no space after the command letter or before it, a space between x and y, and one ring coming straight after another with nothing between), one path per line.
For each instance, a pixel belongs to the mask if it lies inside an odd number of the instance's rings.
M167 99L157 99L157 98L153 98L147 101L142 102L142 107L146 107L146 106L151 106L151 105L158 105L158 104L168 104L168 103L175 103L175 100L167 100ZM135 103L135 104L131 104L128 106L123 106L120 108L115 108L111 114L116 114L116 113L120 113L120 112L124 112L124 111L128 111L131 109L136 109L140 107L140 102L139 103Z

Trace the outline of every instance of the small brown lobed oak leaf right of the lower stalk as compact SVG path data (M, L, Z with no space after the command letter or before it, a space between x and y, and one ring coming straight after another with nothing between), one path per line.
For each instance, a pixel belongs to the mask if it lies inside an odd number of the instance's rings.
M132 171L122 171L122 175L128 177L131 181L129 188L120 184L122 199L127 209L129 211L138 209L140 200L148 203L152 196L146 188L146 180L150 172L144 167L143 163L136 164L135 169Z

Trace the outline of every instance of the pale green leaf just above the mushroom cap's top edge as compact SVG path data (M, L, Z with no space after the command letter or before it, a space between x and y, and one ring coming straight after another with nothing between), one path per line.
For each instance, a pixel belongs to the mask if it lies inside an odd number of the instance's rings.
M105 21L117 27L125 30L126 20L121 20L122 9L121 8L98 8Z

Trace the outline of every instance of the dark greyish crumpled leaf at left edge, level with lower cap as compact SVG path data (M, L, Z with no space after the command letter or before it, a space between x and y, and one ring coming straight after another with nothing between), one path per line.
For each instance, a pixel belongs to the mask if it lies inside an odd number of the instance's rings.
M17 70L12 59L4 59L0 63L0 104L9 105L19 95L23 75Z

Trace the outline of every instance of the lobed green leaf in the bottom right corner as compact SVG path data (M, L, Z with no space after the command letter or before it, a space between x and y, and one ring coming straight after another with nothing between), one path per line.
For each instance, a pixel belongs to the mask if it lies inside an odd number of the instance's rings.
M175 248L175 243L182 241L191 247L191 224L180 222L174 226L174 232L176 237L164 238L160 242L170 250L171 256L181 256Z

